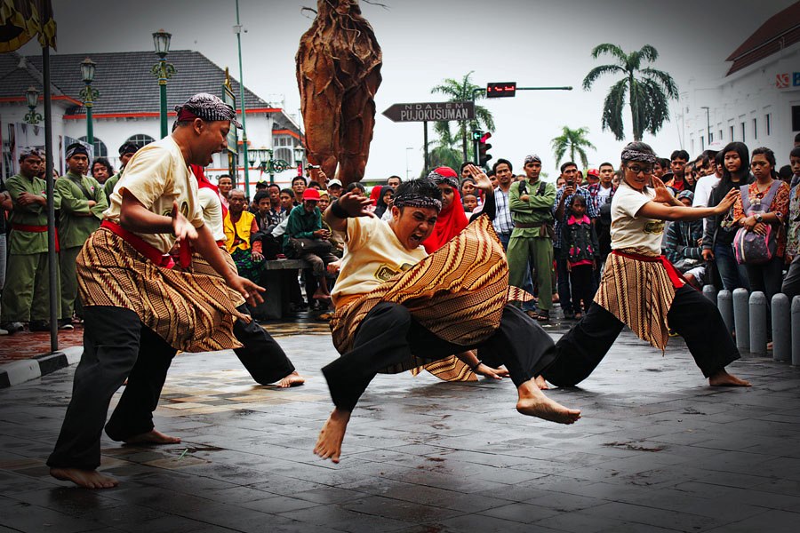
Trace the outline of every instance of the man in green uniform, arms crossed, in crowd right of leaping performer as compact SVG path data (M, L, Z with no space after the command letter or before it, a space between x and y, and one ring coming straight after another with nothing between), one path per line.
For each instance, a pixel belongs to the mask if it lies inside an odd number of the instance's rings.
M536 271L539 287L539 310L529 311L533 318L548 321L553 306L553 203L556 187L539 179L539 155L525 156L524 171L527 179L511 184L508 191L508 209L514 220L514 231L508 241L508 282L522 288L528 261Z

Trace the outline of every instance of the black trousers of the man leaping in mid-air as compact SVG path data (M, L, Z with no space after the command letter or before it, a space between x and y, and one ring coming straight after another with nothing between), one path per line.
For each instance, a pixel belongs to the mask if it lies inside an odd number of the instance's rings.
M356 330L353 349L323 369L333 404L353 410L380 370L403 362L410 354L436 361L477 348L490 366L506 365L516 386L539 376L555 359L554 345L539 324L515 306L503 309L500 328L477 346L459 346L436 337L404 306L380 303Z

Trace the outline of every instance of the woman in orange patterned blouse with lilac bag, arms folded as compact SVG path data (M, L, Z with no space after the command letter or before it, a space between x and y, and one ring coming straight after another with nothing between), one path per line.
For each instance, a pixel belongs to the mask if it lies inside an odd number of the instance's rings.
M733 249L737 261L747 269L750 290L764 292L769 304L780 292L782 281L789 187L777 179L771 149L753 150L750 167L756 181L741 186L741 195L733 204L733 221L740 228Z

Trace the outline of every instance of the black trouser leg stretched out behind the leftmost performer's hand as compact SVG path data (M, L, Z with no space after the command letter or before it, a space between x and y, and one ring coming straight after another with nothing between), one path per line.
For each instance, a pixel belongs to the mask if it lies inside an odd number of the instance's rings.
M248 313L244 304L236 308ZM244 345L236 348L234 354L261 385L275 383L294 371L294 365L286 357L284 349L254 320L249 323L242 320L234 322L234 336Z

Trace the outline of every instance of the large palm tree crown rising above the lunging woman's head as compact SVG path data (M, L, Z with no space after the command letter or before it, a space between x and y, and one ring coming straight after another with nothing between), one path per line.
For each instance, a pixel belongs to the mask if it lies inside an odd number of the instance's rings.
M644 61L652 63L659 57L650 44L641 50L625 53L616 44L598 44L592 50L592 57L597 59L608 53L616 60L612 65L601 65L592 68L583 78L583 89L588 91L596 79L604 74L619 74L619 82L605 96L603 104L603 129L611 130L617 140L625 139L622 127L622 107L628 94L628 106L633 122L634 140L642 140L642 133L649 131L655 135L663 123L669 118L668 99L677 99L678 91L675 80L663 70L642 68Z

